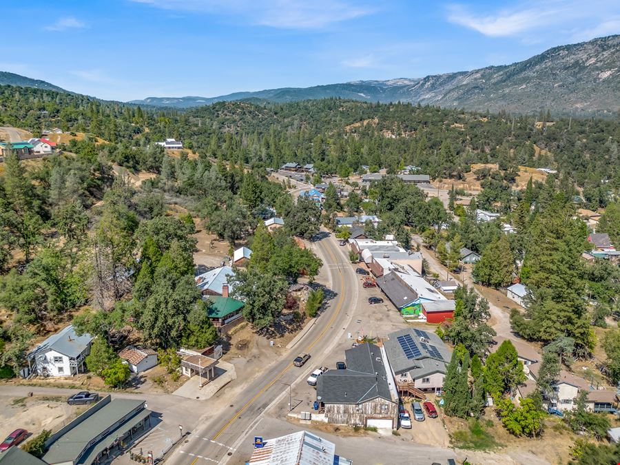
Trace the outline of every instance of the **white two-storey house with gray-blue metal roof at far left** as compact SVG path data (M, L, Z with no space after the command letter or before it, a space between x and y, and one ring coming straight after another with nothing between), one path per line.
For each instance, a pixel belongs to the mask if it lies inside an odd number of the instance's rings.
M61 329L28 353L28 368L40 376L73 376L84 373L84 359L94 338L76 335L73 325Z

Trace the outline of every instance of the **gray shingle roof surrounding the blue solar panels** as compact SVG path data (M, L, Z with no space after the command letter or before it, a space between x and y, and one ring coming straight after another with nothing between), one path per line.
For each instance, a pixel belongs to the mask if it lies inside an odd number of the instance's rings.
M409 371L411 377L417 379L424 375L430 375L431 373L446 373L446 364L450 362L452 352L446 347L446 344L444 344L438 335L430 331L425 332L425 338L428 340L428 342L424 342L427 347L426 349L422 346L420 335L415 333L414 328L400 329L388 335L389 340L384 342L383 347L385 348L388 360L395 374L400 375L401 373ZM407 358L400 343L397 341L397 338L402 335L411 335L418 349L420 349L420 355L412 359ZM433 355L433 353L428 350L430 347L435 347L437 349L440 358L437 358L436 355Z

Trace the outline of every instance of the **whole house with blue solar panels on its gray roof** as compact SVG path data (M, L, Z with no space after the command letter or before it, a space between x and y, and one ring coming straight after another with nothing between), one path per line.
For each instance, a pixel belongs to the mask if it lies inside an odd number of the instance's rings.
M415 389L439 392L452 357L439 336L409 327L389 333L388 338L383 345L398 391L404 395L415 395Z

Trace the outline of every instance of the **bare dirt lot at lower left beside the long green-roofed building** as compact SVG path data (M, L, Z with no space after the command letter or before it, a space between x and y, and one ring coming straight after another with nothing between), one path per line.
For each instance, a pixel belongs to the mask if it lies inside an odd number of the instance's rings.
M43 429L55 430L86 409L83 405L71 406L60 396L0 397L0 437L15 428L25 428L33 435Z

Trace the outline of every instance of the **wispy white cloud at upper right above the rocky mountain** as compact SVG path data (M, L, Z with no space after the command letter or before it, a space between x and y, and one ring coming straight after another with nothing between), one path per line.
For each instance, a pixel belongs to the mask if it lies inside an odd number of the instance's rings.
M556 38L565 35L570 39L617 34L620 32L619 14L617 0L524 0L511 8L486 12L472 12L462 4L448 6L451 23L489 37L521 35L528 43L549 34Z

